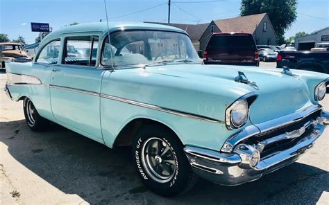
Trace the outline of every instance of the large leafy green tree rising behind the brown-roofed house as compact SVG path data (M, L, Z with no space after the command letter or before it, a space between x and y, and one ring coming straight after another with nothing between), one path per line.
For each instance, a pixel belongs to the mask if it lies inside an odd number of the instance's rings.
M297 18L298 0L242 0L242 16L267 13L278 39L283 39L285 30Z

